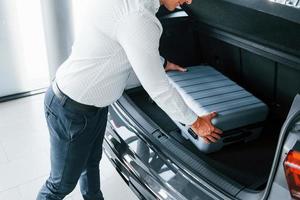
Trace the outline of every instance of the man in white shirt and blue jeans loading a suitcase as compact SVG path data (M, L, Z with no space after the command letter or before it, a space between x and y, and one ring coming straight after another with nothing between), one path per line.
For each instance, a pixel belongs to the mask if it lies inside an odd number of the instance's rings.
M168 82L158 52L160 5L174 10L192 0L89 0L70 57L45 95L51 173L38 200L63 199L80 182L85 200L103 199L99 162L107 106L123 93L133 70L151 98L171 118L190 125L206 142L222 132L216 113L198 117ZM166 70L181 69L168 63Z

